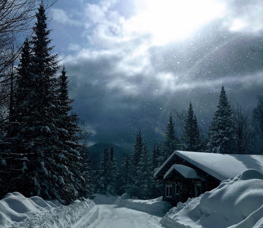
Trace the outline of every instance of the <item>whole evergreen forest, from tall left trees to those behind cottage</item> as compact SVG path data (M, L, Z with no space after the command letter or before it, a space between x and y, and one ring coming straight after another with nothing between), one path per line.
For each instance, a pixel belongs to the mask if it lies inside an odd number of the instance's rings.
M114 147L106 146L99 166L91 169L87 147L90 132L73 112L66 66L59 66L59 56L52 54L43 1L30 27L33 3L25 1L27 11L13 24L0 25L0 48L5 53L0 56L1 197L17 191L26 197L58 199L63 204L92 198L94 193L127 193L149 199L158 197L162 188L162 183L153 179L154 170L174 150L263 154L263 97L250 112L235 99L229 100L222 86L207 136L201 133L194 104L189 102L187 111L170 114L160 144L149 148L139 130L132 153L119 166ZM1 4L0 12L9 10L6 16L1 14L2 21L10 14L17 15L18 8ZM21 46L21 36L9 33L16 31L12 26L29 34Z

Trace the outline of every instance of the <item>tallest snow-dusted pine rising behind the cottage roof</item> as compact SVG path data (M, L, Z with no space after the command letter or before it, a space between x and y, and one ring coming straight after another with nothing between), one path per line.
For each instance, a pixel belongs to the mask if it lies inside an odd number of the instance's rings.
M207 152L233 153L231 148L233 137L233 110L222 86L217 110L209 129Z

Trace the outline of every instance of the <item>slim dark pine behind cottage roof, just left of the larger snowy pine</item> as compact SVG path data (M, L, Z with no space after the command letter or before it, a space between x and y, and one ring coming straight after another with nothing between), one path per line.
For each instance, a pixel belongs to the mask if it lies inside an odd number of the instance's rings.
M183 148L185 151L198 151L201 147L200 130L197 124L196 115L193 112L192 103L190 102L185 124L183 126Z

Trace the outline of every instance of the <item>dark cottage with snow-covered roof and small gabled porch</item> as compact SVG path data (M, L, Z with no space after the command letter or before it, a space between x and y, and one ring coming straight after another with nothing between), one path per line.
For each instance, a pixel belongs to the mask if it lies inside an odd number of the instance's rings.
M156 170L154 178L163 180L163 200L176 205L247 169L263 173L263 155L174 151Z

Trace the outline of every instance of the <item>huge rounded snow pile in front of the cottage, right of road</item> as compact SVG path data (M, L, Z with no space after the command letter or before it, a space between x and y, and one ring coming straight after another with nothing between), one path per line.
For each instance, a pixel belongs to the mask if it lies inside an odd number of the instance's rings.
M245 170L212 191L178 203L160 223L177 228L263 227L263 174Z

